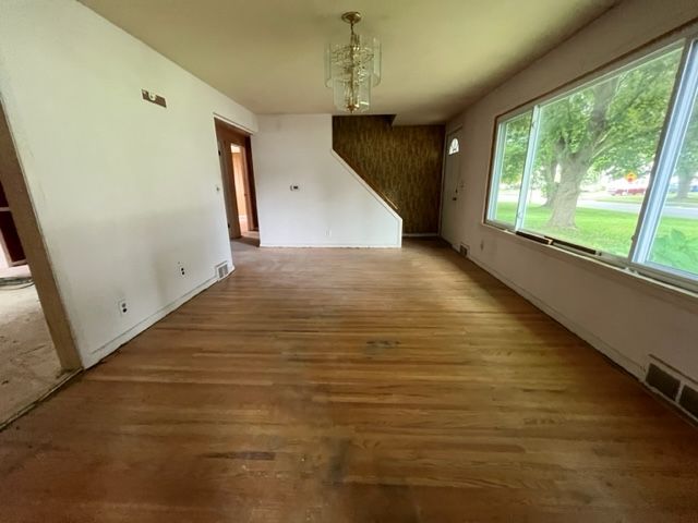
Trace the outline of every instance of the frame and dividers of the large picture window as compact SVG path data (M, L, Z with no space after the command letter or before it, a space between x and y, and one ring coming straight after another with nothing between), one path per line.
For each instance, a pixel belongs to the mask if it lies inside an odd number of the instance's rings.
M535 137L539 131L539 120L541 107L547 104L554 102L556 99L564 98L574 94L575 92L585 88L588 85L592 85L602 81L606 76L611 76L622 72L624 69L634 64L640 64L645 60L651 60L654 54L659 56L663 52L671 52L672 48L682 49L682 56L678 62L676 78L672 88L672 93L669 100L664 123L658 139L657 150L654 155L654 162L650 172L650 183L647 187L645 198L642 199L640 211L637 217L636 230L633 235L633 242L627 256L618 256L611 253L597 251L593 247L587 248L581 245L566 244L567 242L555 240L550 236L545 236L540 232L531 231L522 228L522 219L525 216L526 203L528 198L528 187L530 184L530 170L532 169L532 157L535 153ZM694 70L688 68L694 63ZM552 89L543 95L535 97L525 104L515 107L512 110L503 112L495 117L492 135L492 150L490 155L490 165L488 170L488 184L485 194L484 212L482 216L482 224L491 226L498 230L508 231L519 236L540 236L543 240L549 240L544 246L553 246L557 250L568 252L575 255L581 255L591 259L601 262L602 264L613 266L615 268L624 269L630 273L637 273L653 280L669 283L677 287L682 290L698 293L698 275L682 271L672 267L667 267L661 264L649 262L649 255L651 253L652 243L661 220L664 202L666 199L666 193L669 190L669 183L665 181L666 175L671 179L672 172L660 171L666 166L664 157L667 154L665 146L667 141L673 139L677 143L677 153L681 153L681 146L683 145L683 136L681 139L676 138L673 134L674 120L676 118L677 102L682 101L679 97L686 97L686 94L690 94L690 87L694 84L689 84L686 87L686 77L689 73L695 73L696 86L698 87L698 23L694 20L690 21L658 38L654 38L647 44L622 54L621 57L606 62L605 64L592 70L589 73L582 74L570 82L567 82L555 89ZM682 89L684 89L682 92ZM498 183L500 183L500 170L501 161L504 154L503 142L505 133L502 130L506 123L520 114L528 111L532 112L531 127L529 133L529 142L527 148L527 159L524 168L524 174L521 179L521 187L519 192L519 198L516 208L515 223L503 222L493 218L490 218L491 211L496 209L496 197L498 196ZM690 118L690 114L688 114ZM671 136L670 136L671 135ZM531 158L529 159L529 156ZM662 163L662 166L660 166ZM528 171L528 172L527 172ZM528 179L528 180L527 180ZM493 190L494 187L494 190ZM646 220L647 216L653 216L657 220L655 223L650 223L648 228Z

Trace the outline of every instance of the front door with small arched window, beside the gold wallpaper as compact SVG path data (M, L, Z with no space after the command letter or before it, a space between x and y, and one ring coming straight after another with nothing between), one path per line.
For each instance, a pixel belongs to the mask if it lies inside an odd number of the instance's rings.
M441 235L452 245L458 243L458 208L464 184L460 178L460 129L446 136L444 181L441 192Z

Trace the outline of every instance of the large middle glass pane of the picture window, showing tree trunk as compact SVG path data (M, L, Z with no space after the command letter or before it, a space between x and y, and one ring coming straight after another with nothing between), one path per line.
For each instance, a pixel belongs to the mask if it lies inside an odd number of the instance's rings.
M541 106L524 229L628 255L681 53Z

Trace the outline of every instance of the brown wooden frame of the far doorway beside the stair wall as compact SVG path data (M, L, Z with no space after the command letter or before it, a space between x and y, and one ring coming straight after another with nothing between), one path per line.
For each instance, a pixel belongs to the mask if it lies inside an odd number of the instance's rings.
M251 134L214 117L216 139L218 141L218 155L220 156L221 175L224 179L224 195L226 198L226 212L228 214L230 238L240 238L240 209L236 198L236 190L244 191L248 205L248 229L260 230L257 217L256 191L254 184L254 169L252 166L252 139ZM230 146L237 145L242 151L244 166L244 187L236 187ZM246 191L245 191L246 190Z

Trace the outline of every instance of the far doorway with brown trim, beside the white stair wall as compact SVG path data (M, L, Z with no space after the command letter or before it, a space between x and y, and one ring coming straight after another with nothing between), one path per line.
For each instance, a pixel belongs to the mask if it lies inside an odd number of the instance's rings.
M215 122L228 235L231 241L258 246L260 228L250 135L218 119Z

